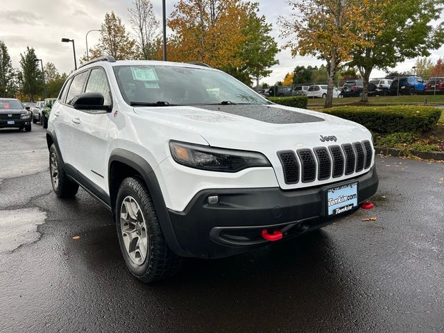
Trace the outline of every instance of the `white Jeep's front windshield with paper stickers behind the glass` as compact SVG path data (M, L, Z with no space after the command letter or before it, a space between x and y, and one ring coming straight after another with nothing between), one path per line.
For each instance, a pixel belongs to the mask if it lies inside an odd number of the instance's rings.
M228 74L205 68L123 65L114 74L123 99L135 106L269 103Z

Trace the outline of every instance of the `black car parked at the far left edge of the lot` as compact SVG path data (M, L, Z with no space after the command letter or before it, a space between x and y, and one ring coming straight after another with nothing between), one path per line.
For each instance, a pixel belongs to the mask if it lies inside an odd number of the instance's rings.
M31 131L31 112L18 99L0 99L0 128Z

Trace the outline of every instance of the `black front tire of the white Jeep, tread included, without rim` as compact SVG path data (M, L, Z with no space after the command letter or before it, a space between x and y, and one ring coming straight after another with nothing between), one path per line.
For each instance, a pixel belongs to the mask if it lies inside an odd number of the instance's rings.
M126 223L121 212L123 201L128 200L128 198L132 198L137 203L139 209L137 210L137 221L138 223L141 223L140 225L144 226L144 228L139 229L139 236L134 236L135 238L133 238L128 244L133 244L133 246L137 248L139 239L137 239L137 244L135 244L135 239L136 237L141 238L142 230L146 230L146 253L144 254L143 262L142 258L139 257L139 263L134 262L134 259L130 257L130 251L126 249L123 240L123 237L128 237L128 234L123 236L123 228L125 228L125 225L129 226L129 224ZM140 212L142 212L142 216L140 216ZM126 213L124 212L123 215L124 214ZM136 278L142 280L142 282L150 283L167 278L179 270L182 258L178 257L178 255L174 254L169 249L157 221L157 214L154 209L153 201L151 200L148 189L142 180L133 177L123 180L117 194L114 216L116 219L117 235L123 259L125 259L129 271ZM129 216L129 214L127 214L127 216ZM138 249L140 251L140 248Z

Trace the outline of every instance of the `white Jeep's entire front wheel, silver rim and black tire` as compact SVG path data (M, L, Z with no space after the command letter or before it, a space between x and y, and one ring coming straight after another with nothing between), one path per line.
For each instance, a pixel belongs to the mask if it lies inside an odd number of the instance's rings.
M149 283L178 271L182 260L169 249L151 196L139 178L121 183L115 219L123 259L136 278Z

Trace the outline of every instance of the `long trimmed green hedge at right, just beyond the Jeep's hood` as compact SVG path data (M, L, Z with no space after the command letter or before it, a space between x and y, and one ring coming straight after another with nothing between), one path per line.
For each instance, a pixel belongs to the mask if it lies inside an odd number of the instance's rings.
M420 133L434 128L441 117L439 108L418 105L340 106L323 112L366 126L375 133Z

